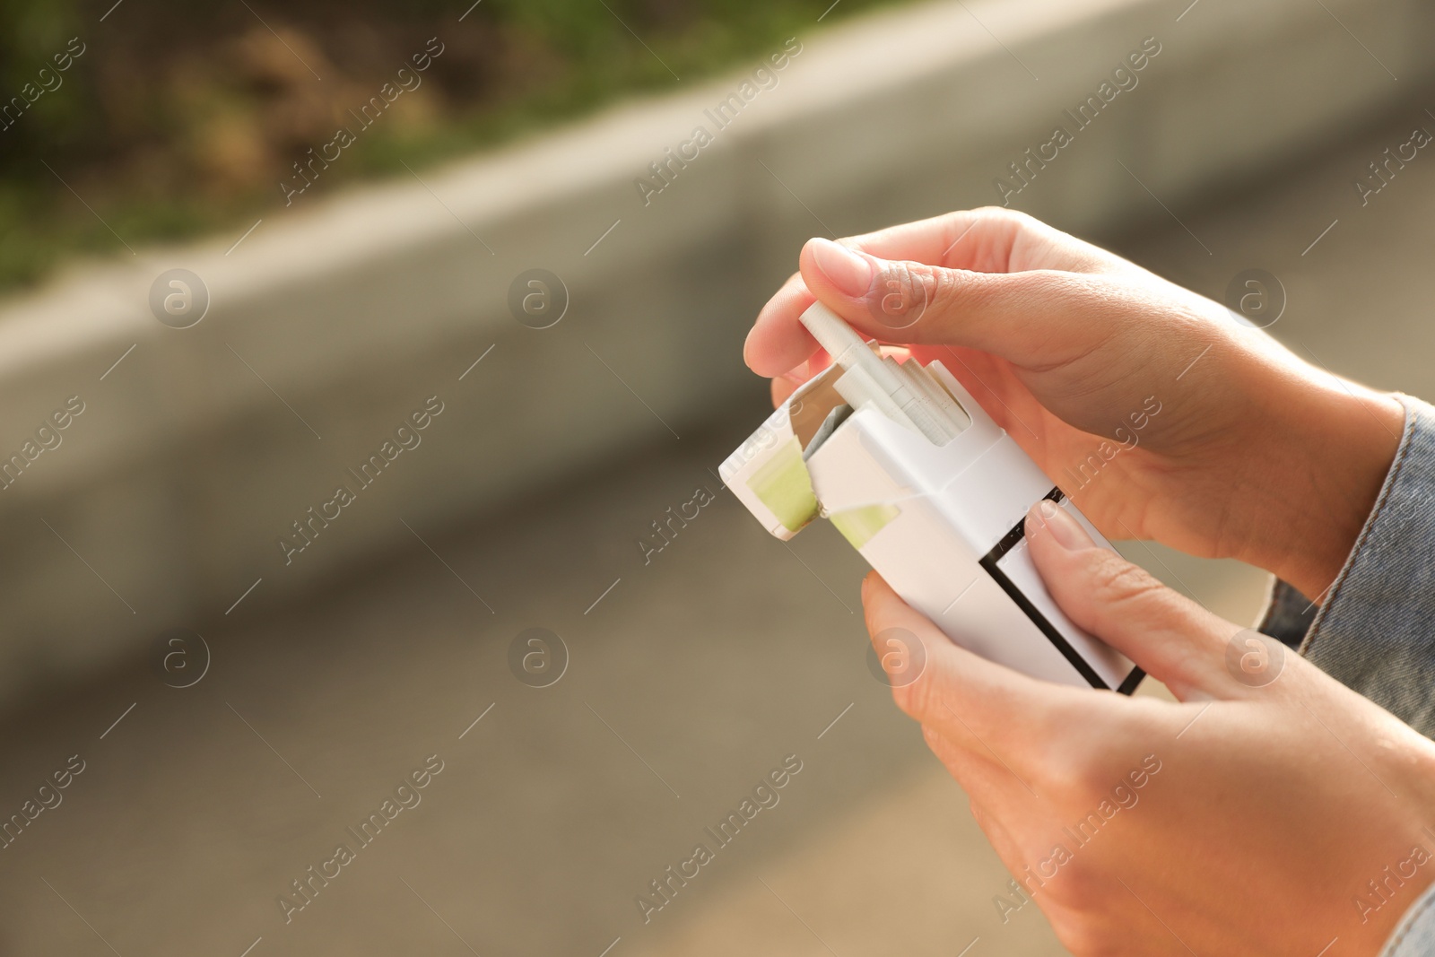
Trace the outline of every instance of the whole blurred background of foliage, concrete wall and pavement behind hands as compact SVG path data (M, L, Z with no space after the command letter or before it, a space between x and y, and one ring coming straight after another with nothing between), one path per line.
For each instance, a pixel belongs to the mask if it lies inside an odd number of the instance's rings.
M0 954L1065 953L868 670L861 560L723 492L743 337L805 238L1004 201L1217 300L1261 270L1297 354L1435 395L1432 23L7 3Z

